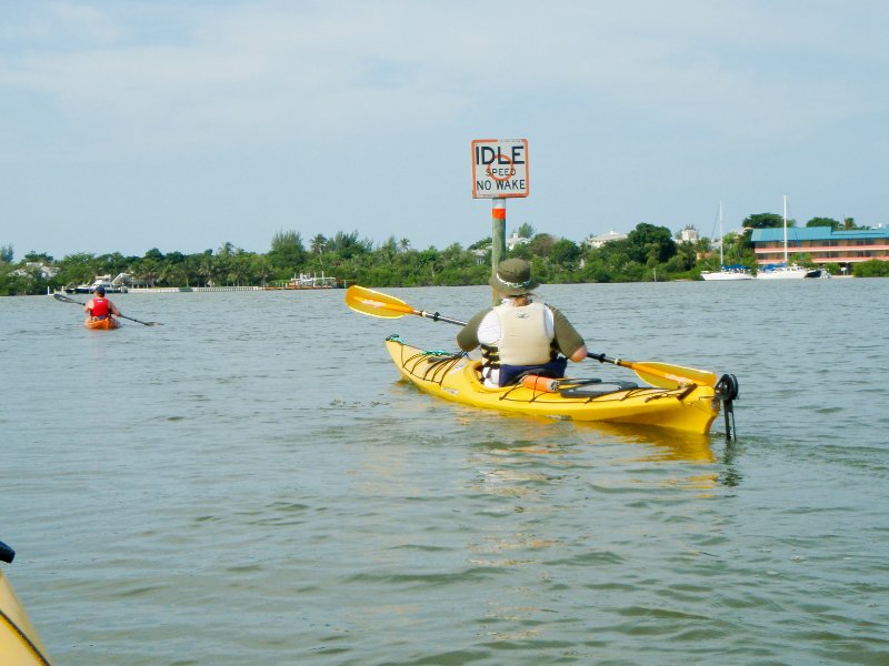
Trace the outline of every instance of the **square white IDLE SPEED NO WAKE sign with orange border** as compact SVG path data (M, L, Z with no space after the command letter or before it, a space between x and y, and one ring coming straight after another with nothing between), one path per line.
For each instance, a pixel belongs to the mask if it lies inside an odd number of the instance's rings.
M528 140L472 142L472 198L528 196Z

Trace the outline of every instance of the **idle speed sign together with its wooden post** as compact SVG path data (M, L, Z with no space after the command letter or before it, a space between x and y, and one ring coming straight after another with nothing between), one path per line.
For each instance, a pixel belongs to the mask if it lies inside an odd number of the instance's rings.
M528 140L472 141L472 198L491 199L491 276L507 255L507 199L528 196ZM493 294L493 304L499 301Z

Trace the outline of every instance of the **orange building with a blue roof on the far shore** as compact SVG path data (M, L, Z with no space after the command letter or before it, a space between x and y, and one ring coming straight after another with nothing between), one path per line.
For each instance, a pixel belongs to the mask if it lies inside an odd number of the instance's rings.
M757 264L766 266L785 261L785 230L755 229L750 241ZM833 231L829 226L788 226L787 252L791 258L808 254L818 265L849 264L878 259L889 261L889 229Z

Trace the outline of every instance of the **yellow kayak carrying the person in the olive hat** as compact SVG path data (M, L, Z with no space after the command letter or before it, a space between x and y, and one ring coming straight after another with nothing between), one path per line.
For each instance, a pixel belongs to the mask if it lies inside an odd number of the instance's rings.
M709 385L677 389L636 386L629 382L562 380L546 390L523 384L486 387L479 375L481 361L466 354L424 352L397 335L386 341L401 376L414 386L473 407L515 414L657 425L687 433L707 434L719 414L720 400Z

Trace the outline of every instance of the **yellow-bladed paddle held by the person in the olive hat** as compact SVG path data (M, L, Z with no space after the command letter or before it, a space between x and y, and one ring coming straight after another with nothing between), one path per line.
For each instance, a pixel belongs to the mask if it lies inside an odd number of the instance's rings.
M382 294L359 286L358 284L353 284L346 290L346 304L356 312L361 312L362 314L369 314L371 316L398 319L406 314L416 314L437 322L447 322L449 324L457 324L458 326L466 326L466 322L441 316L438 312L430 314L422 310L416 310L401 299L396 299L394 296ZM587 356L589 359L595 359L599 363L613 363L621 367L628 367L639 375L639 379L643 382L648 382L652 386L658 386L659 389L678 389L679 386L687 386L689 384L715 386L718 381L713 373L696 370L693 367L682 367L681 365L649 361L635 363L621 359L609 359L605 354L593 354L592 352L588 353Z

